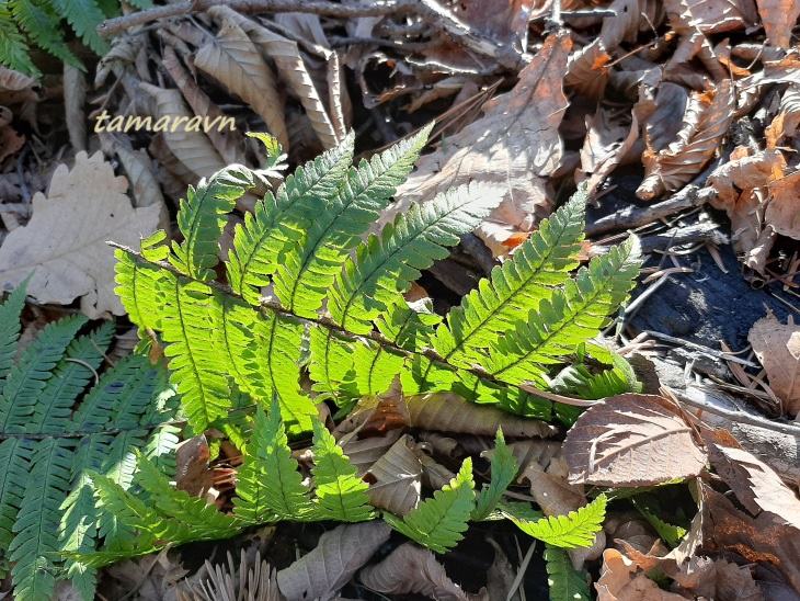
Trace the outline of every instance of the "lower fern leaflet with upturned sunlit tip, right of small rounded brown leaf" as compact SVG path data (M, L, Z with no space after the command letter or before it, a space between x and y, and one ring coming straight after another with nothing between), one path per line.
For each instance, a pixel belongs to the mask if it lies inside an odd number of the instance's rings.
M389 524L409 538L412 538L436 553L446 553L464 538L469 515L475 509L475 481L472 480L472 460L467 457L455 478L433 499L422 501L402 520L384 513Z

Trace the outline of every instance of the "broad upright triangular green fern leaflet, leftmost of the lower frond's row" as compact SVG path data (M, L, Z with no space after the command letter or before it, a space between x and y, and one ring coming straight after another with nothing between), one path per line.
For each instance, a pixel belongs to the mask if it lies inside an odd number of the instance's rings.
M281 409L273 400L270 416L256 409L255 427L239 468L233 513L249 523L298 519L311 504L297 461L292 457Z

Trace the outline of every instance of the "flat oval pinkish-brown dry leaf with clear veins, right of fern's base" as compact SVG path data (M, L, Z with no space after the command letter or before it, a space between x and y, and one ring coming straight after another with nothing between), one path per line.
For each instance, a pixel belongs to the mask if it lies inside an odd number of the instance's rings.
M653 486L697 476L706 465L678 409L653 395L618 395L591 407L562 452L573 484Z

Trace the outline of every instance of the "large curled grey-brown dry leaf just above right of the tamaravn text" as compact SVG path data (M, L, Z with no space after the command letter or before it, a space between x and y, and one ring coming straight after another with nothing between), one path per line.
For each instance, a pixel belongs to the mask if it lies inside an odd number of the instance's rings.
M212 7L207 12L219 23L220 29L214 42L197 50L195 66L250 104L264 120L268 133L288 151L284 103L272 69L261 58L253 42L228 16L226 7Z

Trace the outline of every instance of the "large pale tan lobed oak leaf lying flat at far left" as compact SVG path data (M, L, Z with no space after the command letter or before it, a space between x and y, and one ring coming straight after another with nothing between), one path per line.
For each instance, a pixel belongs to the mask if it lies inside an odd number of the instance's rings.
M49 195L33 197L33 217L0 247L0 286L19 285L36 270L27 294L39 303L67 305L80 297L92 319L125 315L114 294L114 249L106 240L135 246L158 227L159 205L130 206L128 182L114 175L102 152L78 152L70 171L59 165Z

